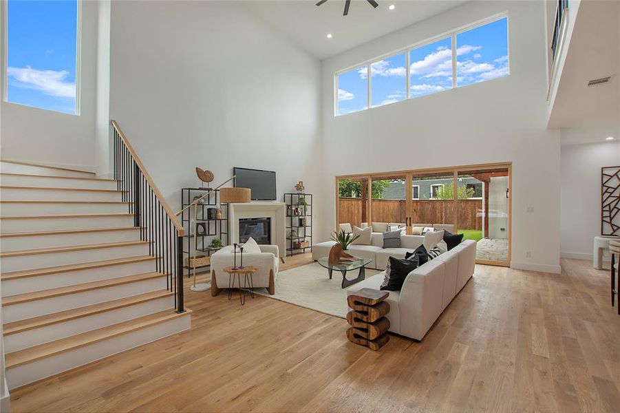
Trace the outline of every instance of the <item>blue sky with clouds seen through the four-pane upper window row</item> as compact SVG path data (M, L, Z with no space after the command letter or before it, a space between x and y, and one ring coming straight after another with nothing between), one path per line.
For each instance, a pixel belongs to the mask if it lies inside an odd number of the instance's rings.
M451 37L409 51L409 96L415 98L452 87ZM456 36L457 86L509 74L507 19L493 21ZM404 100L405 53L371 65L372 107ZM338 114L367 107L367 66L338 75Z

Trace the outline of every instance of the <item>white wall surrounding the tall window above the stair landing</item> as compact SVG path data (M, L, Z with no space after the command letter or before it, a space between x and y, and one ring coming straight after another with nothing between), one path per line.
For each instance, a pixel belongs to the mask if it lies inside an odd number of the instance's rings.
M6 9L2 4L4 28ZM0 103L0 157L94 170L97 8L94 1L82 2L80 114L73 116L34 107ZM2 78L6 53L2 47ZM4 88L4 83L2 88ZM4 96L2 90L1 96Z

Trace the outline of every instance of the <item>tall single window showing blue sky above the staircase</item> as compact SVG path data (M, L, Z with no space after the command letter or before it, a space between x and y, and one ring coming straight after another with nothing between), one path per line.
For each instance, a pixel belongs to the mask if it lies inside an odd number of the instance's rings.
M7 3L7 100L76 114L78 3Z

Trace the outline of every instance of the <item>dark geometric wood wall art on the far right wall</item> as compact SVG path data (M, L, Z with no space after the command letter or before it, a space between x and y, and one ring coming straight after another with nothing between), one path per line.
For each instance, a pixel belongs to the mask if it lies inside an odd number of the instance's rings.
M601 235L620 235L620 167L601 168Z

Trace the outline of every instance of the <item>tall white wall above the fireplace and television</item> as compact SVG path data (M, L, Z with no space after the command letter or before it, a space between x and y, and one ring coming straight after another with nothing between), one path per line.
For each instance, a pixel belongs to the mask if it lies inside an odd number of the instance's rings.
M173 208L195 167L275 170L279 200L303 180L320 204L320 63L242 6L113 1L110 61L110 116Z

